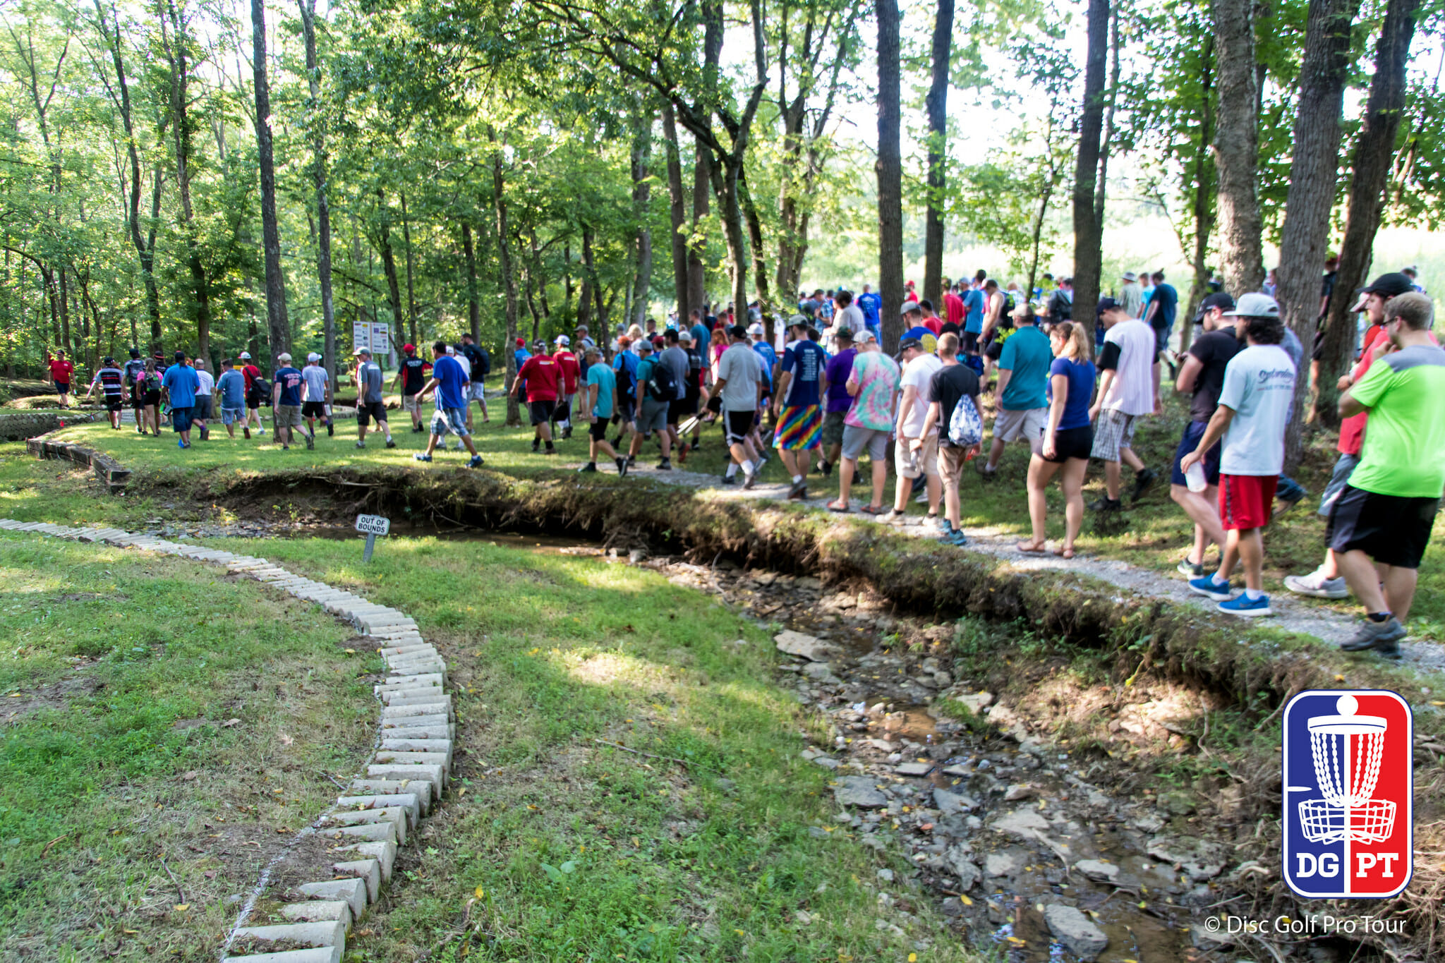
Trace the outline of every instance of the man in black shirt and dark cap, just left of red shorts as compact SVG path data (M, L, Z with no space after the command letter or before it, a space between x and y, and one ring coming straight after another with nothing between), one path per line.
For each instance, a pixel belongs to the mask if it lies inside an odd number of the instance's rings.
M1191 579L1204 578L1204 553L1209 544L1224 552L1224 526L1220 523L1220 445L1204 455L1199 468L1204 472L1204 489L1189 488L1185 478L1183 456L1199 446L1209 419L1220 407L1220 391L1224 388L1224 368L1244 345L1240 342L1233 315L1234 299L1225 293L1209 295L1199 305L1199 325L1204 334L1195 338L1189 354L1179 367L1175 390L1188 394L1189 422L1183 426L1179 448L1175 450L1173 468L1169 475L1169 497L1183 508L1194 523L1194 547L1179 563L1179 572Z

